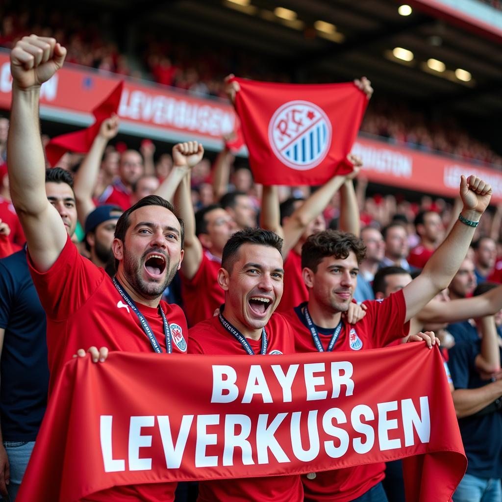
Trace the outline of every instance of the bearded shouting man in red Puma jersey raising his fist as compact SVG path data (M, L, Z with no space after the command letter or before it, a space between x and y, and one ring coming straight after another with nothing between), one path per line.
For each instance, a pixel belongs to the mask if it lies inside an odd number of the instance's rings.
M183 312L161 301L183 259L183 221L172 205L149 196L120 216L112 243L117 273L110 279L80 256L70 240L76 218L63 209L71 203L75 213L71 187L45 183L40 85L62 66L65 55L54 39L35 35L23 37L11 52L9 176L28 242L30 272L47 315L49 393L62 365L80 347L159 354L187 350ZM182 149L180 155L186 152ZM93 494L92 500L171 501L175 488L176 483L112 487Z

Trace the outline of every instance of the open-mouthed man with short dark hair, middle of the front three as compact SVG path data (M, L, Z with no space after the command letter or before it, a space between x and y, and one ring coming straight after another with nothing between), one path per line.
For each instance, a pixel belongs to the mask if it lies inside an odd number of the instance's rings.
M281 314L274 314L283 294L281 250L281 237L268 230L247 228L228 239L218 272L225 303L219 315L190 329L189 353L294 352L289 324ZM303 489L298 475L203 481L198 500L300 502Z

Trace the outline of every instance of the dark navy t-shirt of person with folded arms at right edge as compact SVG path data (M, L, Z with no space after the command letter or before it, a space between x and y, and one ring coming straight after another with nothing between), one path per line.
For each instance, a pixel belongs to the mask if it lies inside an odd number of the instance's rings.
M474 359L481 341L456 343L449 351L448 366L455 389L478 389L491 383L481 380ZM458 420L467 473L482 478L502 477L502 411Z

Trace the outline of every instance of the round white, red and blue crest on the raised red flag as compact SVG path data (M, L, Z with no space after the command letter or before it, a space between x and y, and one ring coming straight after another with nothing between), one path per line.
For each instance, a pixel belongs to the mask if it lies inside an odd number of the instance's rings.
M309 101L288 101L272 115L269 142L276 157L299 171L320 164L331 145L331 122Z

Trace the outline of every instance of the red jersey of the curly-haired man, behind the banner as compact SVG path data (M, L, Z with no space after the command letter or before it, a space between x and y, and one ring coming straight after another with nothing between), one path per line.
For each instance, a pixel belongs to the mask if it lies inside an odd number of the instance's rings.
M365 350L384 347L408 334L405 324L406 303L402 291L382 301L365 301L366 315L357 324L343 323L333 350ZM301 310L302 306L284 314L295 333L296 352L317 352L312 334ZM333 329L317 327L319 339L326 350ZM349 502L366 493L385 477L385 463L346 467L316 472L314 479L302 475L306 502Z

